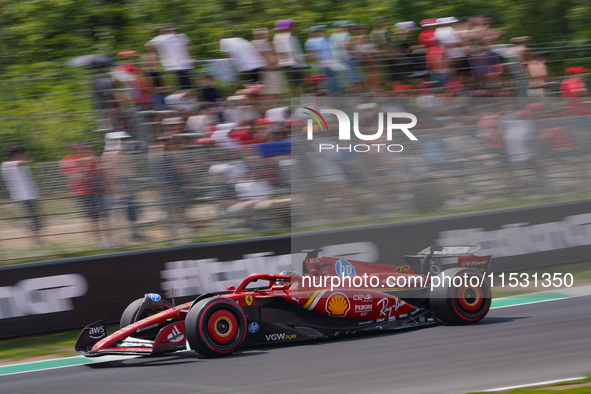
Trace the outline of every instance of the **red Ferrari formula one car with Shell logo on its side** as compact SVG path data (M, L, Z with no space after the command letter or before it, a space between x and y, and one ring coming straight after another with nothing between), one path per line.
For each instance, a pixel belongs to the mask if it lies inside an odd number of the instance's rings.
M491 302L483 274L491 256L476 256L476 250L431 247L405 256L403 265L318 257L318 250L310 250L304 275L254 274L237 287L178 306L146 294L125 309L120 330L107 336L105 321L90 324L75 349L88 357L160 355L188 344L216 357L261 344L475 323ZM358 286L364 277L369 285Z

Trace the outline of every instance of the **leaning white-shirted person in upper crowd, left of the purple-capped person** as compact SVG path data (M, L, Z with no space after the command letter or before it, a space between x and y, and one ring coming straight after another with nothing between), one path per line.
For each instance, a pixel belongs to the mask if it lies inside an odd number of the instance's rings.
M222 38L220 51L234 60L236 69L243 73L247 82L260 81L260 72L267 67L267 62L253 44L240 37Z

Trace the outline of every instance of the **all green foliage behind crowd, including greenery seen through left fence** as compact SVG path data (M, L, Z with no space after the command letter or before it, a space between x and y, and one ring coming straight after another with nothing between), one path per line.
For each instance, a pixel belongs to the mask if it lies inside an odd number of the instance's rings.
M495 18L504 39L560 42L550 45L560 70L569 58L591 66L591 46L568 49L591 39L587 0L0 0L0 148L25 142L46 156L62 152L68 141L95 138L91 116L80 114L92 107L88 78L66 68L66 61L142 51L170 23L192 40L197 59L210 59L222 56L220 37L250 39L252 29L272 28L279 19L297 20L304 38L306 27L344 19L372 24L378 17L395 23L481 14Z

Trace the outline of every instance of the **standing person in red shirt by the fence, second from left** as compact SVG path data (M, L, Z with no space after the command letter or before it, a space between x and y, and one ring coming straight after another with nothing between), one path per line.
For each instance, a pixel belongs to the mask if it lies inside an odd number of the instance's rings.
M98 158L90 145L79 143L70 147L70 155L59 162L66 183L90 220L90 229L99 247L112 243L108 234L107 184Z

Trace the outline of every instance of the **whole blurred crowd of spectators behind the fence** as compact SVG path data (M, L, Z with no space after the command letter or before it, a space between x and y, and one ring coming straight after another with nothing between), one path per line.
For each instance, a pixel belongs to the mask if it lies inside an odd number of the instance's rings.
M150 242L142 230L150 206L178 240L203 231L203 221L220 225L218 235L236 227L264 233L288 230L292 219L427 212L498 191L547 194L561 187L551 174L589 173L589 70L568 68L556 82L547 53L531 49L529 37L501 43L504 32L493 26L487 16L338 21L308 28L302 44L296 22L280 20L251 41L221 38L227 60L208 62L196 60L177 26L166 26L143 54L123 51L118 65L95 67L104 148L71 144L54 163L64 187L52 198L69 194L84 231L106 248L121 243L114 228L127 241ZM369 128L380 111L414 113L419 142L399 155L310 154L306 119L293 111L302 103L363 109ZM25 147L9 156L5 185L42 249L47 230L32 201L44 188ZM201 202L215 213L196 211Z

